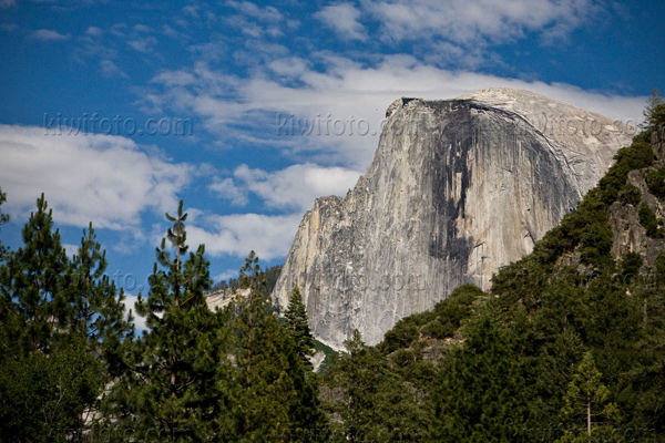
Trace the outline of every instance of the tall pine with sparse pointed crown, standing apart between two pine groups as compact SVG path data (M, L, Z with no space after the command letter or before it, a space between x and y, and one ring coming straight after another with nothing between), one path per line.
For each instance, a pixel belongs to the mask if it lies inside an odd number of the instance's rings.
M106 408L110 424L131 429L139 441L207 441L222 432L217 418L227 413L219 379L229 362L204 298L209 262L203 245L186 256L186 217L182 200L175 217L166 214L173 227L156 249L147 298L140 295L136 305L150 331L131 344L131 370L115 383Z

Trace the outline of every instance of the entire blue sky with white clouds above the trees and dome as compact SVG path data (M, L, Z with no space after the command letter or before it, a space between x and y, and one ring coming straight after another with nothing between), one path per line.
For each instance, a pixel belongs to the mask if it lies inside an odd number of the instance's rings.
M662 0L0 0L0 236L19 247L44 192L69 250L92 222L136 295L183 198L216 280L252 249L279 264L393 100L513 86L635 123L663 23Z

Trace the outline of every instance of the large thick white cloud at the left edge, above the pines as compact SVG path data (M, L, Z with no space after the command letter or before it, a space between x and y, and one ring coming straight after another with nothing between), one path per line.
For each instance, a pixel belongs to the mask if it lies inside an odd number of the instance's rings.
M48 134L48 135L47 135ZM177 205L193 167L147 155L121 136L58 135L55 130L0 125L0 183L7 207L22 216L45 193L59 224L137 229L146 209Z

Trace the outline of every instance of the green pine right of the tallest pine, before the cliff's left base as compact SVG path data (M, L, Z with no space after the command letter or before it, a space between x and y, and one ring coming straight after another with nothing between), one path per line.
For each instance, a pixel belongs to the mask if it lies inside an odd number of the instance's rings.
M238 367L237 434L241 442L318 442L326 435L316 379L290 333L277 322L258 258L241 270L241 293L231 309Z

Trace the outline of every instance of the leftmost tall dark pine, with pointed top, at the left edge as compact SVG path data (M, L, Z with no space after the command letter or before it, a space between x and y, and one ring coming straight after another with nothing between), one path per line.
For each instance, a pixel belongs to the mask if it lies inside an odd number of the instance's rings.
M9 441L66 441L84 427L102 368L72 333L71 266L42 194L23 247L0 268L0 422Z

